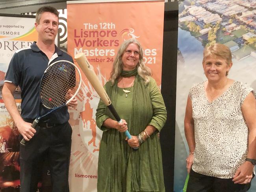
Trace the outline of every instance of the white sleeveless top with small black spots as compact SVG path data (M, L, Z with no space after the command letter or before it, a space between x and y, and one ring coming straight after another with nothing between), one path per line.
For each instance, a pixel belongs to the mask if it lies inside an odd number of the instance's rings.
M195 125L195 172L228 179L245 162L249 133L241 106L250 92L254 90L247 84L234 81L209 102L204 82L189 90Z

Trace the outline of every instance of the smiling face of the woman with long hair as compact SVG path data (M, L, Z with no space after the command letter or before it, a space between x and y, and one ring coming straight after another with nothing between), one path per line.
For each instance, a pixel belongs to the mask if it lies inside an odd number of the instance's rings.
M122 55L123 70L134 70L139 62L139 46L131 43Z

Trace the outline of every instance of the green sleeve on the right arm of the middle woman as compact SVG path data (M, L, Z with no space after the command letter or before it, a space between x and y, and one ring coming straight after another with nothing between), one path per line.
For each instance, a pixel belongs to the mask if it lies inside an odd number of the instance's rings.
M158 131L161 131L167 118L163 96L156 84L155 79L150 78L148 88L150 91L150 100L153 108L153 116L149 122L149 125L152 125L156 127Z

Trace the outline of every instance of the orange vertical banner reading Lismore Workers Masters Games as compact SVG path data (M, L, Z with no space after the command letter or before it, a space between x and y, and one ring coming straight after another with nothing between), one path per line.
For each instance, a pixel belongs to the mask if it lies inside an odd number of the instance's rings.
M79 2L79 3L78 3ZM83 52L104 85L120 44L136 38L144 62L161 85L164 1L67 2L68 53ZM97 191L98 150L102 132L96 127L99 97L83 76L78 107L70 115L73 128L70 158L70 190ZM106 157L108 158L108 157Z

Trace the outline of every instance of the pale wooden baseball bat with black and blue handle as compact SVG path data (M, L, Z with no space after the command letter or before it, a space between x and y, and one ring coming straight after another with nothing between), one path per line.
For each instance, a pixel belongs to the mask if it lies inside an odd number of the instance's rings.
M85 55L83 53L76 54L74 58L75 58L76 62L78 63L78 65L80 66L80 68L82 69L85 76L87 77L87 79L89 80L89 82L91 83L91 85L94 87L94 89L100 96L101 100L108 107L109 111L111 111L111 113L113 114L115 119L119 123L121 123L122 120L119 117L119 115L117 114L117 111L113 107L113 105L108 97L108 94L106 93L106 91L103 88L103 86L101 85L98 77L96 76L96 74L93 70L93 66L91 66L91 64L89 63L89 61L87 60L87 58L85 57ZM132 138L132 136L128 130L126 130L124 133L128 139ZM133 149L137 150L138 148L133 148Z

